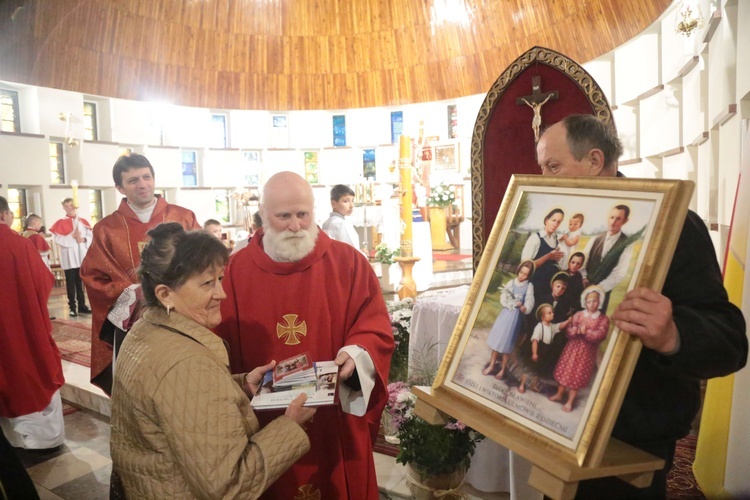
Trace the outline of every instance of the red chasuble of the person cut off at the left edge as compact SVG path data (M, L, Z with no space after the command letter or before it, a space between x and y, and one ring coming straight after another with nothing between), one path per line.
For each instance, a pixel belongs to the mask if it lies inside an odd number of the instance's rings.
M34 245L0 224L0 416L43 410L63 383L47 299L55 278Z

